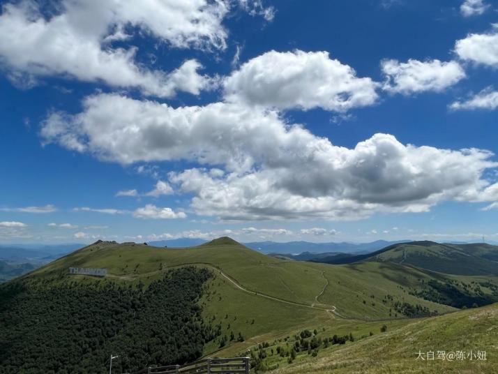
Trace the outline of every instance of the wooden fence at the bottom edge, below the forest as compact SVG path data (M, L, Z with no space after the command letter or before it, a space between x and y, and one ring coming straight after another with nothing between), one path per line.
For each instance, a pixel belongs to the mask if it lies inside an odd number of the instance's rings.
M249 374L249 357L204 359L193 364L145 368L136 374Z

